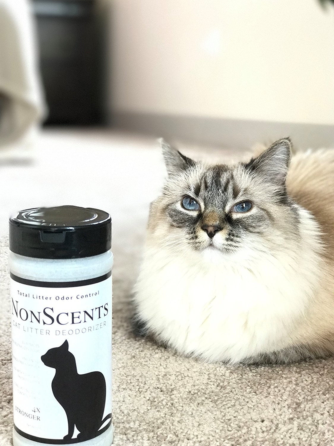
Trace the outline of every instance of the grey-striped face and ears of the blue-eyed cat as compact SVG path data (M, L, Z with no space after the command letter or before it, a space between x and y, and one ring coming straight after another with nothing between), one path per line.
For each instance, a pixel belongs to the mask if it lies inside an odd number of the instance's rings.
M232 166L205 166L162 144L168 179L150 219L165 246L230 254L265 249L273 236L293 230L296 212L285 189L289 139Z

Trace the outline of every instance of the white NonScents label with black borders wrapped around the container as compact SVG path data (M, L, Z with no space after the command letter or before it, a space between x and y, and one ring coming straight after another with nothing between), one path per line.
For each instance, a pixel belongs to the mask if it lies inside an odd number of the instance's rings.
M11 275L14 428L25 438L76 443L110 426L111 280Z

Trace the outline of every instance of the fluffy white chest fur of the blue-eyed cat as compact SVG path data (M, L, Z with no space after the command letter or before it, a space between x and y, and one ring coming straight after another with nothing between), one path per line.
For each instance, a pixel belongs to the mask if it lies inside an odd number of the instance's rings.
M138 312L183 354L234 363L277 350L289 345L314 292L300 262L282 254L249 265L215 251L170 256L148 249L136 286Z

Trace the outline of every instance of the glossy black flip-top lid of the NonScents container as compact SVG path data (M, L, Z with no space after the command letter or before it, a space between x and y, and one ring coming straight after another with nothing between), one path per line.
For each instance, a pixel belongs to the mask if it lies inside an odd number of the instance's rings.
M25 209L9 219L9 249L40 259L97 256L111 247L111 218L90 207Z

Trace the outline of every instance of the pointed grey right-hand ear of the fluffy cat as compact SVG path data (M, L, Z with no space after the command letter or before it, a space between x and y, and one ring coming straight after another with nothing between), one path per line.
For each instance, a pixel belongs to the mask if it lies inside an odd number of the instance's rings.
M291 149L290 138L283 138L274 142L258 157L252 158L245 167L269 182L276 183L277 186L284 186L290 164Z

